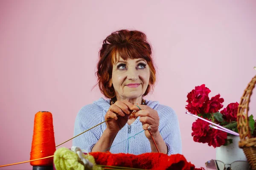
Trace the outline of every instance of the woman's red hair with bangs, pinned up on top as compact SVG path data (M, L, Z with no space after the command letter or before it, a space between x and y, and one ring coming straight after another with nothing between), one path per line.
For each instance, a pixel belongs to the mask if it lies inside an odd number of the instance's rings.
M96 72L102 94L107 98L115 96L113 85L109 87L109 84L112 77L113 63L119 59L116 56L117 54L124 60L142 58L147 61L150 78L143 95L146 96L156 81L156 70L151 57L151 45L147 42L147 37L143 32L128 30L115 31L103 41L102 48L99 51L98 71Z

